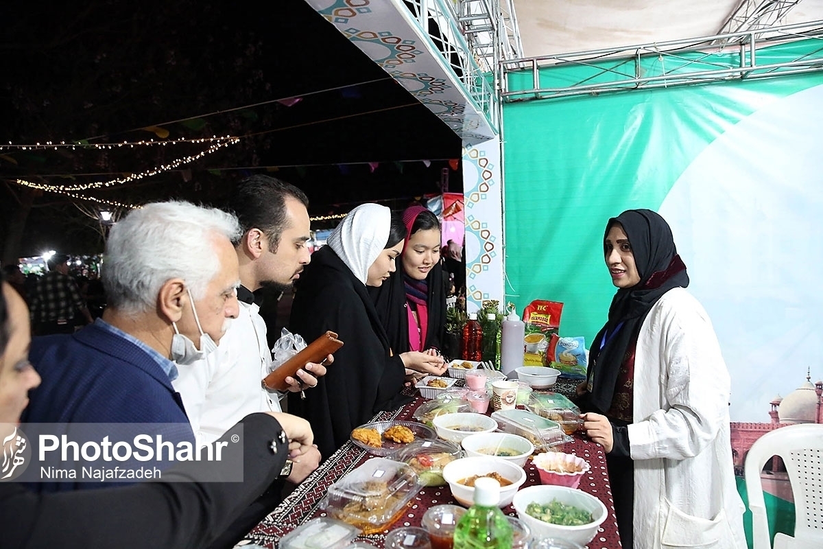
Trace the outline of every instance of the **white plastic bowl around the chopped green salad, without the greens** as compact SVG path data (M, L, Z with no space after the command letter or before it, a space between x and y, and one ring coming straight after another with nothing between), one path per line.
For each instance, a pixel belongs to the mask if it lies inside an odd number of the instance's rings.
M458 459L457 461L460 460ZM451 463L449 463L449 465L450 464ZM565 505L574 505L574 507L579 509L585 509L592 514L593 521L580 526L561 526L560 524L543 522L526 513L528 504L537 502L541 505L546 505L551 502L551 500L558 500ZM535 539L559 537L560 539L567 539L570 542L579 543L580 545L586 545L592 541L594 535L597 533L597 529L600 528L600 525L608 516L606 505L603 505L601 500L584 491L569 488L568 486L547 484L528 486L514 494L512 504L520 520L526 523L528 528L531 528L532 536Z

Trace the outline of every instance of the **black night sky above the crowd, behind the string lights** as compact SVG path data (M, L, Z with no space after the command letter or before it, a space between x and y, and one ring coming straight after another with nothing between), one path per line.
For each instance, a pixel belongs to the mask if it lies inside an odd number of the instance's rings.
M155 137L140 128L158 124L170 139L242 137L239 145L190 165L190 177L177 170L128 188L88 192L94 196L220 205L239 179L263 172L303 188L312 215L392 198L398 202L389 205L402 207L410 197L437 193L446 159L460 156L459 137L303 0L263 7L93 0L78 9L66 3L17 2L0 22L7 59L0 143L136 141ZM270 102L287 97L302 100ZM217 111L230 112L212 114ZM195 120L169 123L181 119ZM178 151L184 148L0 151L0 242L10 213L20 207L13 179L107 180L170 161ZM433 160L430 167L423 159ZM381 162L374 173L365 165L370 161ZM459 172L449 170L449 176L451 188L460 188ZM83 248L87 224L70 200L43 193L35 198L20 252Z

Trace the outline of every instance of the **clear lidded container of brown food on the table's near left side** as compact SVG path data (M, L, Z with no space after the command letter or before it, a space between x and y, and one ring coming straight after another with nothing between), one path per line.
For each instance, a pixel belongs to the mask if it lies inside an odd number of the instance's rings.
M400 517L421 486L406 463L372 458L329 486L320 506L364 534L377 533Z

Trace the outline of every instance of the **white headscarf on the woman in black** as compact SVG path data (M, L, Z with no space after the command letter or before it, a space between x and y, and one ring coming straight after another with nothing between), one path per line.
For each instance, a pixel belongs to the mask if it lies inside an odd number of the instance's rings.
M392 211L388 207L360 204L332 230L326 244L365 285L369 268L386 247L391 226Z

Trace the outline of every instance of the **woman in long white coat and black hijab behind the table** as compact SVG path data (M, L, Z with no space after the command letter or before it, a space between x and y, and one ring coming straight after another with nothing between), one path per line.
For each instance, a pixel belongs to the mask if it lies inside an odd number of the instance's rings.
M618 290L578 393L584 430L607 453L622 545L746 547L731 382L672 230L629 210L609 220L603 253Z

